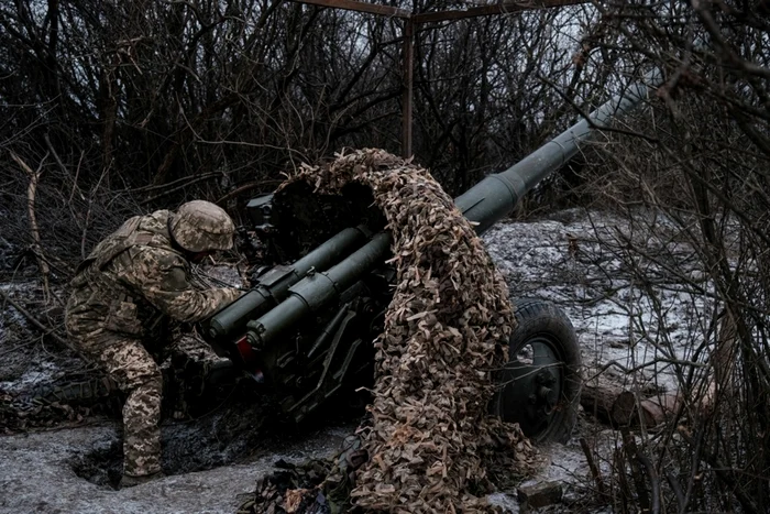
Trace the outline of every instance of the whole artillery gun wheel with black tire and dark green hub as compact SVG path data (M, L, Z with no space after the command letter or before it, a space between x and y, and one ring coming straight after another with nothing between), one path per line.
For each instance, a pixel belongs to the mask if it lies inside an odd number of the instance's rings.
M535 442L566 442L578 417L580 348L570 319L538 299L513 302L518 326L510 337L508 363L492 414L518 423Z

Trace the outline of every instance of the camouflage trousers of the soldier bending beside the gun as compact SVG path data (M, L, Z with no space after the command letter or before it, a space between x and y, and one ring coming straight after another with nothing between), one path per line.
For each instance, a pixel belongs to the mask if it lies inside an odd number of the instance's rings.
M140 477L161 471L163 375L155 359L140 339L108 330L97 330L85 337L77 337L76 330L69 331L75 347L109 373L127 394L123 472Z

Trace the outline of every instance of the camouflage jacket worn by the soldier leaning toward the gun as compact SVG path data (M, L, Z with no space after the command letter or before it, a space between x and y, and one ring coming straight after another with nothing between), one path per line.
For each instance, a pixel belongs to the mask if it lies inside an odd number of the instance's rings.
M129 219L78 266L67 303L70 335L153 338L167 318L199 321L240 296L237 288L194 287L187 259L172 245L169 215Z

